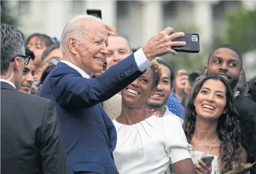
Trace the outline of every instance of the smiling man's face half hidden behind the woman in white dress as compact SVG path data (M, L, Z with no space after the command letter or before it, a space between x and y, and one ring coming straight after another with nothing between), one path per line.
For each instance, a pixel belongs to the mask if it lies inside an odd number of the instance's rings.
M164 65L160 65L160 68L162 75L157 89L152 95L151 99L147 100L147 105L150 107L164 106L172 91L172 86L170 83L170 69Z

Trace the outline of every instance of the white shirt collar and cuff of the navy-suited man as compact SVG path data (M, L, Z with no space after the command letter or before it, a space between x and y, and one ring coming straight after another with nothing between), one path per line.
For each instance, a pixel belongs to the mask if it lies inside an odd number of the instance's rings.
M134 52L134 59L141 72L143 72L144 70L152 66L152 62L146 58L142 48ZM70 66L71 68L74 68L76 71L78 71L82 75L82 77L88 78L88 79L90 78L90 76L86 72L84 72L78 66L75 66L73 63L66 60L61 60L61 62L66 63L66 65Z

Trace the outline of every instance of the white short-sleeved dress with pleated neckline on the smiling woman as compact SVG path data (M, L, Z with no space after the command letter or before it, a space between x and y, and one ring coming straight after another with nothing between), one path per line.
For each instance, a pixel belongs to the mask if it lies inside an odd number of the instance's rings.
M152 115L133 125L113 120L117 143L113 152L120 174L170 173L170 163L191 159L180 119Z

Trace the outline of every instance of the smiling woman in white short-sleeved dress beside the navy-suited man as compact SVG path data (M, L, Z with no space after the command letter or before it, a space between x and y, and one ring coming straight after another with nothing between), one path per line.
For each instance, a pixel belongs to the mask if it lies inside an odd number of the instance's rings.
M120 174L170 173L172 160L176 174L195 174L179 118L157 117L146 111L146 100L159 81L159 68L153 66L121 91L122 112L113 123L117 144L113 152Z

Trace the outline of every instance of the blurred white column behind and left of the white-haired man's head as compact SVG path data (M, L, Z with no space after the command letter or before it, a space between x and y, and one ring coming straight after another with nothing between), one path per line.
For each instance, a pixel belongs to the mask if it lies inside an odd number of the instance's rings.
M62 31L70 20L71 1L44 1L45 2L45 33L51 38L61 39ZM43 16L41 16L43 17Z

